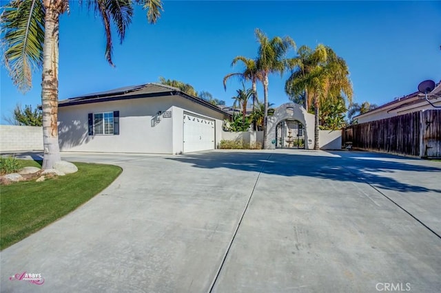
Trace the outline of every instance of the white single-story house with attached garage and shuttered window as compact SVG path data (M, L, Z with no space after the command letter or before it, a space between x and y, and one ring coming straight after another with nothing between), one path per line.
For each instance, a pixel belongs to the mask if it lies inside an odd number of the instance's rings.
M222 109L147 83L59 101L61 151L189 153L215 149Z

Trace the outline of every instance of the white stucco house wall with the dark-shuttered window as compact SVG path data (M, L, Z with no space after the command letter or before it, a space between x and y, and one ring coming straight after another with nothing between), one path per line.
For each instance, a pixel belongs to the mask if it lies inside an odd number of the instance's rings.
M61 151L172 153L172 119L152 119L168 111L172 97L138 98L59 107ZM88 113L119 111L119 135L88 135Z

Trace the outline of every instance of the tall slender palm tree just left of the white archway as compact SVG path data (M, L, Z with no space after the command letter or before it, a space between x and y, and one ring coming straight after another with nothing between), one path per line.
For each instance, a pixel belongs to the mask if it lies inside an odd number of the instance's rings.
M264 118L263 118L263 149L267 148L267 120L268 120L268 76L272 73L280 73L283 76L285 68L287 67L287 61L285 55L291 47L296 47L293 39L289 36L280 38L275 36L273 39L268 37L258 28L256 28L256 39L259 43L258 57L256 60L256 67L263 79L263 97L265 105Z

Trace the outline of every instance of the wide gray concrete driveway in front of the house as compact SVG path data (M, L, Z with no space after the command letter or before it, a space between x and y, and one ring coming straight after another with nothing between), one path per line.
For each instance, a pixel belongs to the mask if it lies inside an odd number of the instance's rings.
M1 292L439 292L441 162L65 153L124 171L1 252ZM43 285L10 276L41 274Z

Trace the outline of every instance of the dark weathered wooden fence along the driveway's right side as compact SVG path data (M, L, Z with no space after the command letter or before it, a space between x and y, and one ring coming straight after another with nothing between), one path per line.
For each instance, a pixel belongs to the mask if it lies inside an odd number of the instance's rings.
M367 151L441 158L441 110L354 124L343 129L342 143Z

